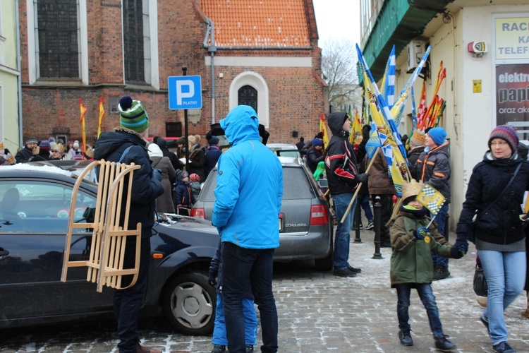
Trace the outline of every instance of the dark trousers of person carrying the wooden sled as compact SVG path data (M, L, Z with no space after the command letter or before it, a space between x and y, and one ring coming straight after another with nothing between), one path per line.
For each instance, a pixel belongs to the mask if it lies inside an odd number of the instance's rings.
M123 268L133 268L135 246L135 239L127 239ZM136 284L128 289L114 289L114 316L118 321L119 353L135 353L136 346L140 342L138 321L140 321L140 309L147 292L150 253L150 239L142 238L140 272ZM130 283L130 277L132 276L123 277L122 287L126 287Z

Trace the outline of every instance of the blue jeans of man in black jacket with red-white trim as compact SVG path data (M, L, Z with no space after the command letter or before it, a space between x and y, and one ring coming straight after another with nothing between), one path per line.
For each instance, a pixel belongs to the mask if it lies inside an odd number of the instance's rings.
M358 199L355 200L353 207L347 214L346 221L341 223L341 219L346 213L352 198L353 193L339 193L332 196L334 212L336 212L336 220L338 220L338 226L336 227L336 234L334 236L334 270L343 270L349 265L349 232L351 232L351 227L353 227L355 207Z

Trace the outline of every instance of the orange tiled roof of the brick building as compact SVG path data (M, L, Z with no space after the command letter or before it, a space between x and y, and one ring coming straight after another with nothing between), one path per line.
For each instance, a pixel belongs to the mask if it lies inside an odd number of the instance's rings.
M303 0L201 0L217 47L310 47Z

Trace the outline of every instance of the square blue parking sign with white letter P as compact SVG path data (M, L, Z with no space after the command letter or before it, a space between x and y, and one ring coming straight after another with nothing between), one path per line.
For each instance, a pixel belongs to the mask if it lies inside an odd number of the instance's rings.
M171 76L168 80L169 109L202 109L200 76Z

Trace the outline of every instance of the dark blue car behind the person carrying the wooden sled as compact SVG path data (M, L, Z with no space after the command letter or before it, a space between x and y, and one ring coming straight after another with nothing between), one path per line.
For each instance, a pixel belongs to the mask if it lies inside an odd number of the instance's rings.
M81 166L82 167L82 166ZM97 186L83 182L70 213L75 172L42 164L0 167L0 328L112 317L112 292L87 282L86 268L70 268L61 282L68 217L85 222ZM85 260L92 232L74 229L71 259ZM165 314L187 335L212 332L216 293L207 283L217 250L217 229L207 221L159 215L145 315Z

